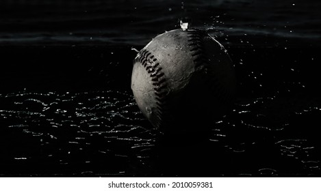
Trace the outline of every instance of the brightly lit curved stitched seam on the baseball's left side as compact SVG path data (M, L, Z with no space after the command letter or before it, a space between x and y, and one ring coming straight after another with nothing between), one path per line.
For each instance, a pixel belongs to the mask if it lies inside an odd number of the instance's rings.
M156 108L157 111L155 116L157 117L155 123L157 128L160 128L164 125L164 113L166 113L166 95L167 91L167 83L166 78L164 78L164 72L162 71L162 67L160 67L159 62L155 58L155 56L149 52L149 50L142 49L140 53L138 53L138 57L134 60L136 63L142 64L145 68L146 72L149 73L151 77L151 81L153 82L153 90L155 93L156 100Z

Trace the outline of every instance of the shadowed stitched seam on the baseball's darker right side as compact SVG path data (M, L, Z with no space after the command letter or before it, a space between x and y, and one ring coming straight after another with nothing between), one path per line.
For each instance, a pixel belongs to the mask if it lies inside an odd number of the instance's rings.
M189 29L188 30L188 46L190 46L191 55L193 57L194 65L197 68L200 65L205 66L205 72L209 67L209 59L204 50L204 38L207 33L199 30L199 29ZM211 89L213 95L221 100L222 102L228 102L231 99L231 93L227 92L223 89L222 85L218 82L218 78L216 75L211 74L211 72L207 72L207 79L205 83Z

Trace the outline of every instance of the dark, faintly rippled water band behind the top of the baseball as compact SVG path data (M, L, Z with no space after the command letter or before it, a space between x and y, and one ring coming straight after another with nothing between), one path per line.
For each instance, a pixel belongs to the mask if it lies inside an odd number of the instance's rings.
M292 40L320 40L321 3L316 0L8 2L0 4L1 44L144 46L156 34L178 28L185 17L189 27L224 35L223 44L248 45L247 38L261 37L287 46ZM264 38L249 41L257 43L275 45Z

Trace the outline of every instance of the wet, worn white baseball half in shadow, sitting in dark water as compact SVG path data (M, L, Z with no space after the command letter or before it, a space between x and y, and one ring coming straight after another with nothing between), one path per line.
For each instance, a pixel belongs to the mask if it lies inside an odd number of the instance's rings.
M227 111L235 73L227 50L205 31L175 29L140 50L131 89L157 130L197 130Z

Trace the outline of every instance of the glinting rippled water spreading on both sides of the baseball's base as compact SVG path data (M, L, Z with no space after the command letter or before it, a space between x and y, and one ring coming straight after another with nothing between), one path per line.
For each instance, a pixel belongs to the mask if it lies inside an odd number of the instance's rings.
M159 145L130 92L4 93L1 174L316 175L317 130L298 123L321 110L283 99L239 100L207 140Z

